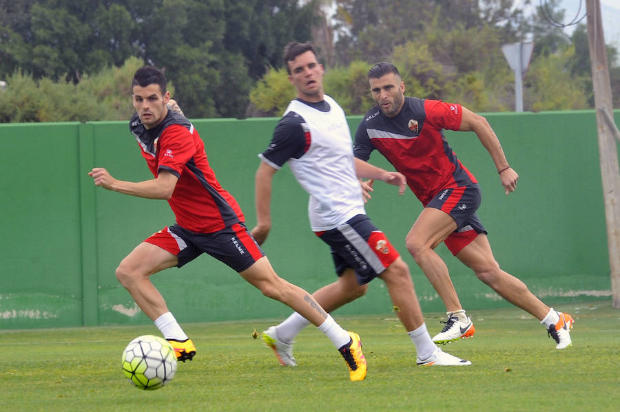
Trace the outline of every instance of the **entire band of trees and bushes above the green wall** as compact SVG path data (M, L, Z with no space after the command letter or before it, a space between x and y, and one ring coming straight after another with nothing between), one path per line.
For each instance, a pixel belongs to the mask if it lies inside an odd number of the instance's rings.
M564 21L558 0L541 3L533 16L509 0L322 3L335 6L327 21L338 39L325 91L347 113L364 113L372 105L365 73L378 61L399 66L410 96L459 102L474 111L510 110L514 80L500 47L528 33L535 50L524 109L594 105L586 27L577 26L569 39L550 25L548 19ZM316 10L323 10L316 1L298 0L155 0L149 7L137 0L0 0L0 79L9 83L0 96L0 120L127 118L132 109L126 80L136 66L122 66L132 57L165 69L176 85L174 97L191 118L279 116L294 96L286 76L277 76L282 47L311 39ZM615 106L617 54L608 46ZM115 67L121 78L112 74ZM555 69L559 76L552 76ZM17 93L16 83L51 95L29 102L37 97ZM74 106L74 113L63 109L83 89L105 107L90 114L83 109L92 103ZM62 98L63 90L76 95ZM61 101L45 103L51 96ZM50 107L43 110L44 103Z

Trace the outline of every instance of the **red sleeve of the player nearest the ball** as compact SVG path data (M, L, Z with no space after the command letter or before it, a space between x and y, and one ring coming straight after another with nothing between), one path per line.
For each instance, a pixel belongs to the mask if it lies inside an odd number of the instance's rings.
M196 153L192 133L180 124L167 127L159 138L157 171L169 171L180 177L185 164Z

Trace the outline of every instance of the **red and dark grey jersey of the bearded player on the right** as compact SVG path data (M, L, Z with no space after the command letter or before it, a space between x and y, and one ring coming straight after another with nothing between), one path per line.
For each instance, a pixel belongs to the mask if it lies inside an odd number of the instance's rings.
M440 100L406 97L393 118L375 106L358 126L353 151L366 161L377 149L405 175L411 191L426 206L445 188L477 183L444 136L443 129L458 130L461 119L460 105Z

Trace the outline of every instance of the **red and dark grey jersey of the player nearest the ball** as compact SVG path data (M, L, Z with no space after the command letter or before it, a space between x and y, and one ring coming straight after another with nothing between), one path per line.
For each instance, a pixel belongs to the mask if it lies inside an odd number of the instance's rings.
M157 127L145 129L134 113L130 130L155 177L162 170L178 177L168 204L179 226L211 233L244 221L236 200L216 179L207 161L205 144L187 118L168 111Z

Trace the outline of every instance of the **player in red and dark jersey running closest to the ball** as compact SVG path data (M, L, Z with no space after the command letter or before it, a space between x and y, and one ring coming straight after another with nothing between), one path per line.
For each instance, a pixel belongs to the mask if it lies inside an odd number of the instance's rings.
M125 182L114 179L100 167L88 173L96 186L126 195L166 199L176 217L176 224L145 239L121 261L116 268L118 281L171 343L178 360L191 360L196 347L149 277L172 266L180 268L203 252L229 265L265 296L300 312L335 347L350 345L349 333L335 323L311 294L273 271L245 227L236 200L216 179L194 125L182 114L168 109L170 93L166 88L163 72L152 66L138 69L132 81L136 113L130 120L130 130L154 179Z

